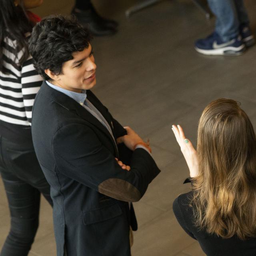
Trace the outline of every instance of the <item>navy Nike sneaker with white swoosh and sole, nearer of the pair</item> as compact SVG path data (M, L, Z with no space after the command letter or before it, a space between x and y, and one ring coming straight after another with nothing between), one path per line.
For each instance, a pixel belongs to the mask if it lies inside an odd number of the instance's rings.
M244 43L241 40L241 36L237 36L223 42L220 36L213 32L210 36L199 39L195 43L196 51L206 55L240 55L246 49Z

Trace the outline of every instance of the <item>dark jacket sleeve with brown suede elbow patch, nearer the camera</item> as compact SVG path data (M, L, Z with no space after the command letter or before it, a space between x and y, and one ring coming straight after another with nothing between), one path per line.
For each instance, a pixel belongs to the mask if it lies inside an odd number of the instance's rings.
M95 132L83 124L67 124L52 140L58 171L102 194L136 202L160 170L146 150L134 150L131 170L123 170Z

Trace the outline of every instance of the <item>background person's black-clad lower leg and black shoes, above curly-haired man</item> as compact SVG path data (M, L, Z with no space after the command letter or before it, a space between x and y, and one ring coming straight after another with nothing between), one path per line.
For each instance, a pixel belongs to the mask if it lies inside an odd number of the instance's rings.
M82 24L88 24L90 32L95 36L108 36L117 32L118 23L101 17L90 0L76 0L72 14Z

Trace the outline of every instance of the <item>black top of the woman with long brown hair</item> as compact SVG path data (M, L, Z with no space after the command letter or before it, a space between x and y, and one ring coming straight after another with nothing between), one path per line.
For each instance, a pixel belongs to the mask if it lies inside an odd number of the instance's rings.
M207 256L256 256L256 238L242 241L237 236L221 238L199 230L194 225L193 210L189 206L192 191L178 196L173 202L174 214L184 231L198 240Z

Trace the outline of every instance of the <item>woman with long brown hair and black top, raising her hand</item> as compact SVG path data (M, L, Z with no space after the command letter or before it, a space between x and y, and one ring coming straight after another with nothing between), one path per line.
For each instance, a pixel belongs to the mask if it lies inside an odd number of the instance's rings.
M172 126L190 169L192 191L173 203L182 228L208 256L256 255L256 137L234 100L204 109L197 152L180 126Z

